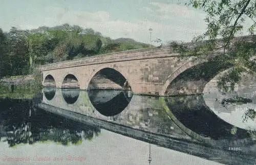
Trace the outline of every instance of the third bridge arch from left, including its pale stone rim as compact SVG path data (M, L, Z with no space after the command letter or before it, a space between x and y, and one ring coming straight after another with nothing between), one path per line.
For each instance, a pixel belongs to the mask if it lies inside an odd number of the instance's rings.
M100 79L100 80L99 80ZM102 82L105 82L103 84ZM102 85L102 86L98 86ZM89 78L87 90L89 89L130 89L132 85L129 76L121 70L114 67L101 66L95 69Z

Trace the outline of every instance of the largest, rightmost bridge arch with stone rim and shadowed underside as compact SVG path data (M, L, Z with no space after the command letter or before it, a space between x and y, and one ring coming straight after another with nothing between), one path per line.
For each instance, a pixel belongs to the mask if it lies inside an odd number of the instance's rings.
M161 96L201 94L212 78L230 67L207 58L190 60L168 76Z

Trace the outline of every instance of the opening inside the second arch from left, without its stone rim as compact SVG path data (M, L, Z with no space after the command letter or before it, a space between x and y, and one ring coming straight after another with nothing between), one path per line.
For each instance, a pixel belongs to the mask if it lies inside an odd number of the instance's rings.
M63 78L61 88L80 88L78 79L73 74L68 74Z

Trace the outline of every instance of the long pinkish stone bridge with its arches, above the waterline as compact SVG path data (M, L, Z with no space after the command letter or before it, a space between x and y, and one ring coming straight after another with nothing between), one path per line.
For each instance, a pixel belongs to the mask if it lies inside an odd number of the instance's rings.
M243 37L248 38L251 36ZM227 69L209 61L209 57L179 60L179 56L164 46L42 65L42 85L86 90L125 88L156 96L191 95L202 93L210 79Z

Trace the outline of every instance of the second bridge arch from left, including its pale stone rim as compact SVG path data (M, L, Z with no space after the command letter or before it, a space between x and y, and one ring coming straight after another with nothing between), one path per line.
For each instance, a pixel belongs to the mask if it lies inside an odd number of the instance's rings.
M61 88L80 88L80 81L73 72L65 73L60 80Z

